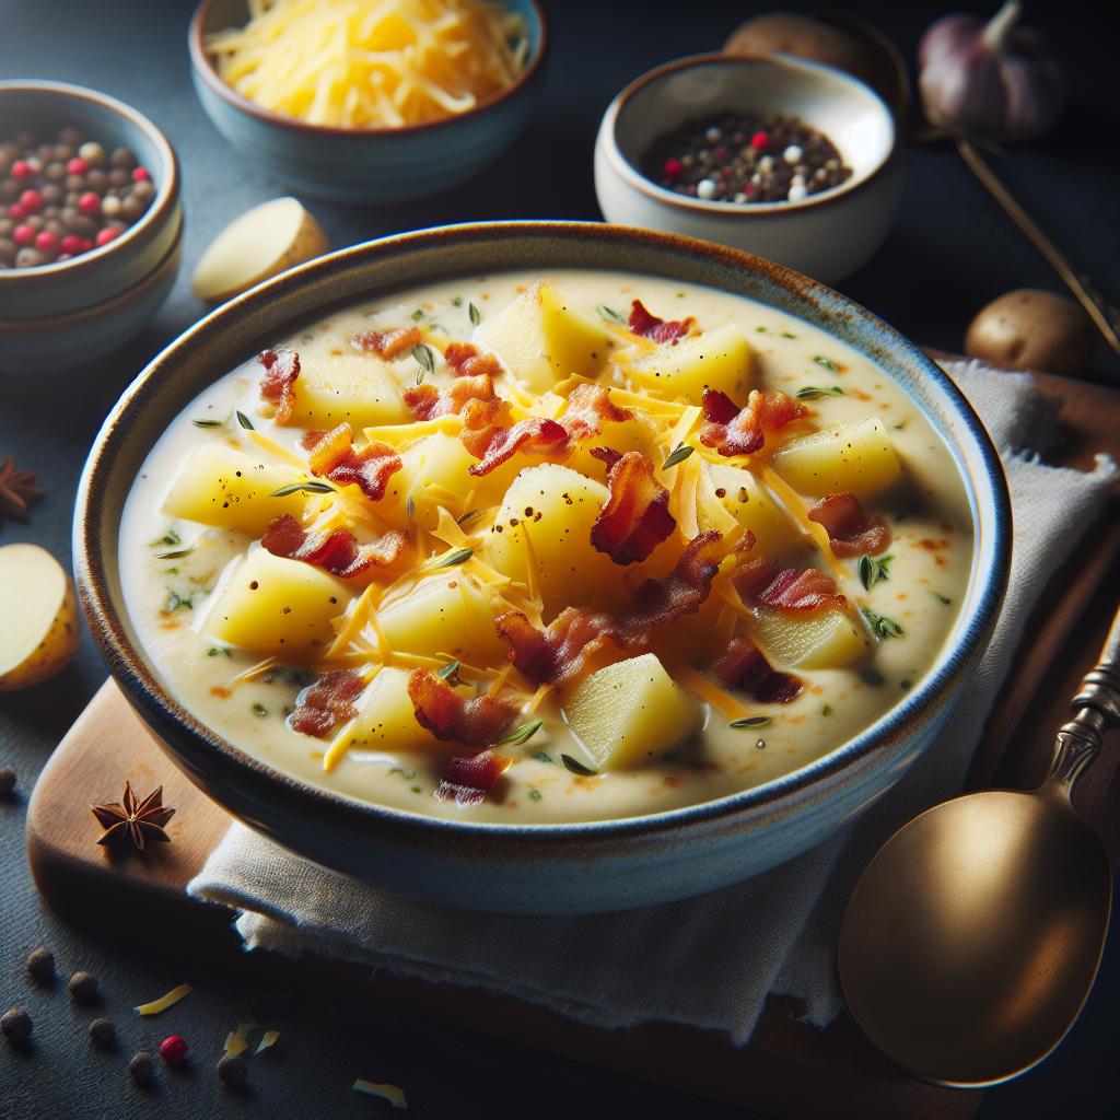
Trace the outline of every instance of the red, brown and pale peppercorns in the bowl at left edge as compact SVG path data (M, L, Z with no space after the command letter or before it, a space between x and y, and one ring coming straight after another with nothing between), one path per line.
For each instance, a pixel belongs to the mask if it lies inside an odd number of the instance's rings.
M67 261L108 245L156 197L130 148L106 151L75 128L53 142L30 132L0 142L0 269Z

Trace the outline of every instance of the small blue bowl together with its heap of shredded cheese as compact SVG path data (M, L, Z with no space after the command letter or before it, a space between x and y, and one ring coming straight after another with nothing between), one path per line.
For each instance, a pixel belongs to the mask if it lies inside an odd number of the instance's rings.
M203 0L195 90L246 159L308 195L389 203L477 174L528 123L536 0Z

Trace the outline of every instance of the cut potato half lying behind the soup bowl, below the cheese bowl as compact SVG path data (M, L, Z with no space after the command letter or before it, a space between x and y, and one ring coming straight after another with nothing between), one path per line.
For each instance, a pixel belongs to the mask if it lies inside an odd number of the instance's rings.
M273 198L234 218L209 243L195 269L195 295L211 302L231 299L329 248L323 226L298 199Z

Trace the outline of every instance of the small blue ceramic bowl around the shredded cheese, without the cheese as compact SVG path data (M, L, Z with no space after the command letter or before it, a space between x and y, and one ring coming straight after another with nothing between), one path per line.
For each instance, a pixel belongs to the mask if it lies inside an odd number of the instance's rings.
M496 159L529 122L540 97L548 50L536 0L506 0L525 20L529 55L521 77L475 109L401 129L307 124L235 93L206 54L207 36L246 22L245 0L203 0L190 21L192 77L217 130L254 167L316 198L393 203L421 198L469 179Z

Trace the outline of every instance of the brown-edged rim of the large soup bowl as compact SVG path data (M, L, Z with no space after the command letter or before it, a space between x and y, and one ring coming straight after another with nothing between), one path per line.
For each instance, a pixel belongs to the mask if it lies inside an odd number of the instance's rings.
M956 456L954 459L958 459L958 470L965 491L969 492L970 504L976 511L974 516L984 512L990 516L990 525L983 526L990 536L987 547L982 548L983 540L979 531L981 526L979 524L976 526L974 567L967 592L969 600L974 604L974 610L968 618L958 616L950 638L946 638L934 665L914 689L905 693L875 722L834 750L795 771L711 801L641 816L605 820L541 824L477 822L424 815L375 802L362 802L277 769L241 750L207 727L202 719L174 700L149 670L144 657L131 643L122 619L113 606L106 577L106 557L101 550L99 532L103 519L102 507L109 493L104 476L112 470L111 460L118 457L119 445L127 439L128 426L124 424L116 431L118 426L130 414L142 412L147 404L146 395L153 391L151 386L166 382L174 373L174 370L165 370L165 366L174 366L179 356L189 356L204 351L207 338L220 335L235 324L242 312L263 314L270 306L280 306L287 297L298 293L301 288L312 287L316 280L321 279L325 271L336 265L368 269L371 265L376 267L381 259L392 261L396 256L413 252L438 250L448 242L452 245L461 242L485 243L501 240L503 236L510 239L536 236L543 243L556 242L559 239L585 241L590 237L606 242L608 248L614 245L618 250L618 259L623 260L625 249L634 248L634 244L638 243L654 249L671 250L678 255L691 259L706 258L716 267L760 272L766 280L786 289L794 299L803 304L813 301L815 297L823 297L827 302L842 309L844 315L885 339L893 353L915 365L923 376L932 379L954 419L963 424L971 437L972 450L982 470L980 477L974 477L970 469L965 469ZM328 307L336 306L340 298L346 297L323 300L314 310L324 311ZM314 310L293 312L288 318L302 319L314 314ZM222 371L215 380L225 372L228 371ZM950 442L948 437L941 438ZM198 746L204 748L207 763L223 775L228 776L236 772L243 778L264 780L268 783L267 796L277 811L295 806L307 819L314 819L315 814L310 812L314 809L323 818L329 814L339 827L354 828L356 830L354 836L361 836L364 830L380 827L402 837L411 836L440 843L457 842L465 846L465 849L479 842L498 843L511 856L523 852L525 844L550 844L564 840L601 843L618 838L631 841L664 839L678 834L682 829L719 828L729 820L757 814L764 810L790 812L799 801L811 796L814 791L827 790L830 782L843 772L850 769L852 775L859 775L861 764L866 767L874 766L877 760L881 762L883 748L890 741L892 736L897 735L900 727L907 722L914 721L922 726L921 718L928 702L936 700L942 690L951 685L984 648L1006 591L1010 550L1011 510L1007 480L991 438L952 380L914 343L848 297L793 269L741 250L681 234L604 223L564 221L465 223L363 242L297 265L211 311L157 355L124 390L110 411L93 442L78 482L73 532L75 575L90 631L111 672L123 683L130 703L155 726L159 737L167 739L167 736L162 735L165 728L171 737L178 736L181 740L185 736L192 744L192 749ZM115 567L115 549L112 552L114 554L109 558L109 563ZM980 562L984 556L989 557L987 568ZM188 760L185 757L188 753L181 746L172 748L177 764L193 775L194 767L199 764ZM246 796L251 797L251 794Z

